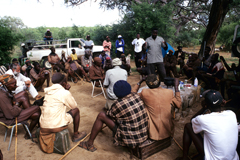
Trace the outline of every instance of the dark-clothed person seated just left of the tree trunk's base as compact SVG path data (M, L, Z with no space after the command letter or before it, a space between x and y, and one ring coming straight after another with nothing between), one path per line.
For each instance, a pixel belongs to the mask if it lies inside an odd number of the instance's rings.
M201 61L197 54L190 54L187 63L183 66L183 71L188 78L194 79L197 76L197 69L200 66Z

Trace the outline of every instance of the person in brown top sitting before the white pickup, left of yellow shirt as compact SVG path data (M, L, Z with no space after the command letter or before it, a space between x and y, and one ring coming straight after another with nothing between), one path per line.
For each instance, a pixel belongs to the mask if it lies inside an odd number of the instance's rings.
M51 53L48 55L48 62L52 65L53 69L57 70L60 72L60 69L67 73L65 70L64 66L60 63L60 58L59 56L55 53L55 48L51 47L50 48Z

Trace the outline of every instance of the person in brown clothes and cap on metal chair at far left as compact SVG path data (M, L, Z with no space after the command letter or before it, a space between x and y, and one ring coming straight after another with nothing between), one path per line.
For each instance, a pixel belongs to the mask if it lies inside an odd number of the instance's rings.
M34 127L39 122L39 106L30 105L26 91L15 95L12 94L12 91L15 91L17 88L17 81L13 75L4 74L0 76L0 82L3 84L0 87L0 121L6 125L14 125L16 123L15 118L17 118L18 123L31 120L29 130L32 133ZM29 138L27 133L25 138Z

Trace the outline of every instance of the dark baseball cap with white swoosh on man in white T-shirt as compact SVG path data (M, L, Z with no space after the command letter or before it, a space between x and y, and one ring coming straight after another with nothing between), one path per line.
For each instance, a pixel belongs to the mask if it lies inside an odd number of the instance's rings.
M207 90L203 92L203 97L208 106L218 106L222 103L223 97L219 91L216 90Z

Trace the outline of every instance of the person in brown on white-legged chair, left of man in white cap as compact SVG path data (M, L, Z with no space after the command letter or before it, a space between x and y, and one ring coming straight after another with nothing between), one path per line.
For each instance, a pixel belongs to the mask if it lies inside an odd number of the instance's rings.
M92 81L100 80L103 84L103 81L105 79L104 71L101 67L102 60L99 57L95 57L93 62L93 65L89 69L89 77ZM96 81L95 86L100 86L100 83Z

